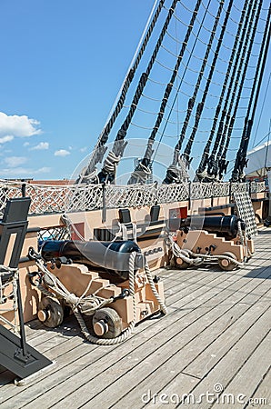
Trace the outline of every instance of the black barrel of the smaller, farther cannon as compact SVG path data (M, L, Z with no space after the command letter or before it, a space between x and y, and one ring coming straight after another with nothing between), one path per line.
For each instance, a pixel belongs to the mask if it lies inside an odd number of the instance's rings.
M238 222L241 222L242 230L246 229L245 222L232 215L201 215L194 214L186 219L170 219L171 227L175 229L190 228L192 230L206 230L208 233L224 235L226 237L236 237L238 233Z

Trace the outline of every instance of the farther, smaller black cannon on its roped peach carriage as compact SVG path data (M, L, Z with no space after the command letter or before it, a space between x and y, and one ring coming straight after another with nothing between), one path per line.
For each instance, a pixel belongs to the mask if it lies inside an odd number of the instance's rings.
M246 237L246 224L235 214L195 214L175 219L170 225L177 231L176 244L180 252L174 257L174 263L178 268L199 265L200 260L217 260L221 269L230 271L254 253L253 241Z

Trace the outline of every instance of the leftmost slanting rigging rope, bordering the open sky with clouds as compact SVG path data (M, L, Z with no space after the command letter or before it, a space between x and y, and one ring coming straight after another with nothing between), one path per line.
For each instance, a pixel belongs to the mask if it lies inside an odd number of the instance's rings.
M154 5L154 7L153 7L153 9L151 11L151 14L150 14L150 16L148 18L148 21L147 21L147 24L146 24L146 28L148 26L148 29L147 29L147 31L145 29L145 32L144 32L143 36L141 37L141 40L140 40L139 45L137 47L137 50L135 51L135 55L136 55L135 62L134 62L134 64L132 63L132 66L128 70L127 75L125 76L125 81L124 81L124 83L123 83L123 85L122 85L122 87L120 89L119 98L118 98L118 101L117 101L117 103L115 105L114 112L110 116L110 118L107 121L101 135L99 136L99 140L98 140L97 144L95 145L95 150L94 150L94 153L93 153L93 155L92 155L92 157L90 159L89 164L87 165L86 169L82 172L82 174L79 176L76 183L90 183L90 181L94 179L95 165L97 163L99 163L99 162L102 162L102 159L103 159L103 157L105 155L105 151L106 151L105 144L106 144L106 142L108 140L110 131L111 131L111 129L112 129L114 123L115 123L116 117L119 115L119 113L121 112L121 110L123 108L123 105L125 103L125 97L127 95L129 86L131 85L132 80L133 80L133 78L135 76L135 71L136 71L136 69L137 69L137 67L138 67L138 65L140 63L140 60L141 60L142 56L144 55L144 52L146 50L146 45L147 45L147 43L148 43L148 41L149 41L149 39L150 39L150 37L152 35L152 32L153 32L153 30L154 30L154 28L156 26L157 19L158 19L160 13L161 13L161 10L163 9L165 1L166 0L160 0L159 5L156 8L156 13L153 16L153 19L152 19L152 21L150 23L150 19L151 19L151 16L154 14L157 2L155 3L155 5ZM146 33L146 35L145 35L145 33ZM144 37L144 35L145 35L145 37ZM144 37L144 39L143 39L143 37ZM141 44L141 42L142 42L142 44ZM88 176L90 176L90 177L88 177Z

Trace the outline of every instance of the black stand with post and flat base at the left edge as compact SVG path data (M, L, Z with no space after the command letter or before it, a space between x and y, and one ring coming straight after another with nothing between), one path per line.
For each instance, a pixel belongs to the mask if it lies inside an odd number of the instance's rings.
M25 241L30 202L29 197L10 199L5 206L3 219L0 221L0 264L7 264L13 269L9 270L10 278L18 268ZM12 248L11 243L13 243ZM8 261L6 261L6 254L10 254ZM18 279L16 295L20 336L13 334L0 324L0 364L20 378L25 378L53 363L43 354L37 352L35 348L26 344L23 303Z

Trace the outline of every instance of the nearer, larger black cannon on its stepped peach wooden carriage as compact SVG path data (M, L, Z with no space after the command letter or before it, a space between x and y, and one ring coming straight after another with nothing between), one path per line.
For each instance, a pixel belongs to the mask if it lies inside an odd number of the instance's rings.
M65 307L72 305L77 319L78 314L92 317L89 329L96 338L88 334L87 339L98 343L128 334L135 323L161 310L163 283L146 270L146 256L135 242L47 240L39 245L47 264L43 283L53 292L39 304L38 318L46 326L61 324Z

